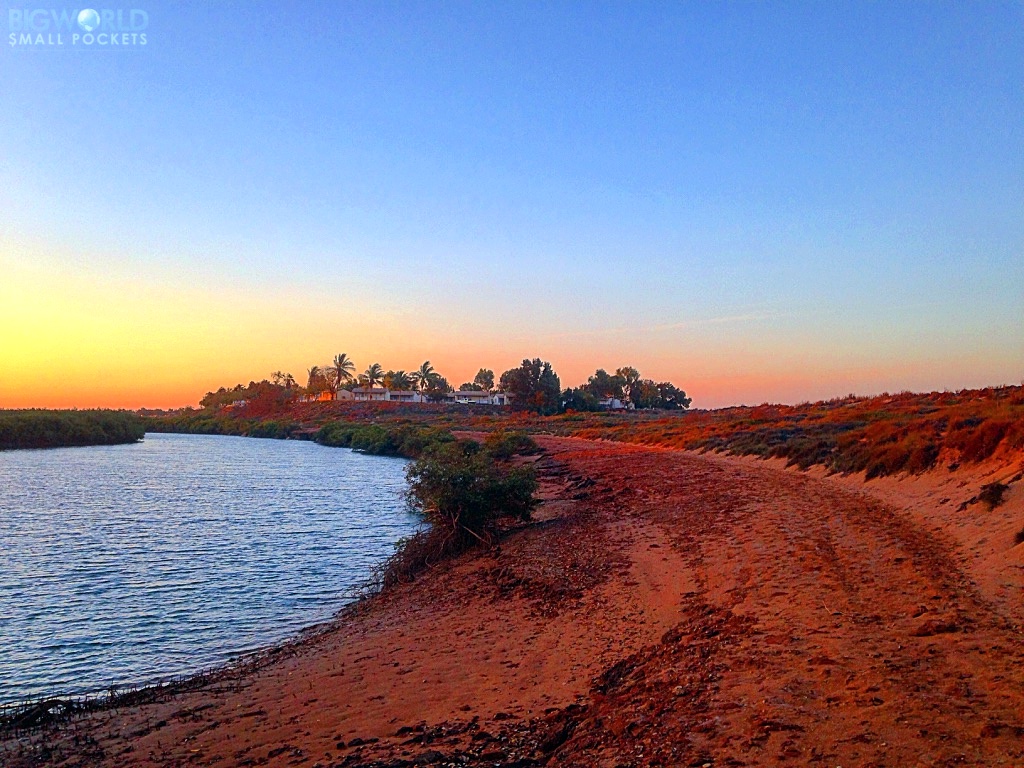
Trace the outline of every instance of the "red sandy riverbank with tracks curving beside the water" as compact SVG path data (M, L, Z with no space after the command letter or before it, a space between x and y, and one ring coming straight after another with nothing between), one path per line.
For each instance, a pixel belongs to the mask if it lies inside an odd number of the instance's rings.
M541 437L501 548L28 765L1013 765L1019 465L827 478ZM862 478L862 475L861 475ZM982 484L1006 503L970 503ZM962 509L961 505L965 505Z

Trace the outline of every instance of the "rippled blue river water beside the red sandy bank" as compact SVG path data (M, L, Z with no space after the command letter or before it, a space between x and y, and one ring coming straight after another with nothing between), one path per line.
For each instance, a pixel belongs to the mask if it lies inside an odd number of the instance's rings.
M329 617L416 527L404 465L172 434L0 452L0 702L196 672Z

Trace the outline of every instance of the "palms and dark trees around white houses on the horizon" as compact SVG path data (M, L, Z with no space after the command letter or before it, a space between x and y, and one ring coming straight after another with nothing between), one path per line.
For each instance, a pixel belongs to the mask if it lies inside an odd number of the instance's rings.
M300 394L322 392L330 392L333 398L340 390L351 391L358 387L413 390L435 402L456 391L430 360L408 372L385 371L379 362L373 362L357 374L354 361L346 353L339 352L330 364L309 368L304 387L291 373L274 371L269 380L250 382L248 387L239 384L232 389L221 387L216 392L207 392L200 404L216 408L243 399L285 403ZM495 372L481 368L472 381L460 384L458 391L506 392L511 395L512 408L542 415L600 411L608 407L675 411L690 406L686 392L672 382L645 379L631 366L615 369L613 374L598 369L586 383L562 389L551 364L540 357L523 359L518 367L509 369L498 377L497 386Z

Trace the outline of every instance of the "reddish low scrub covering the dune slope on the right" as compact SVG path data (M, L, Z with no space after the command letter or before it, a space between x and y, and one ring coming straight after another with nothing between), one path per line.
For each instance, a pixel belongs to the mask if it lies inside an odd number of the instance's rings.
M1024 387L848 396L800 406L691 412L676 418L553 420L550 431L785 459L868 479L1024 451ZM560 423L558 423L560 422Z

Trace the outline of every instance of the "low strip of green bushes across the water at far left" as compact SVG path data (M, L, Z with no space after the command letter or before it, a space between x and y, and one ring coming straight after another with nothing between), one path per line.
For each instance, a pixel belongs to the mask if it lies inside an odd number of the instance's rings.
M0 411L0 451L138 442L145 423L125 411Z

